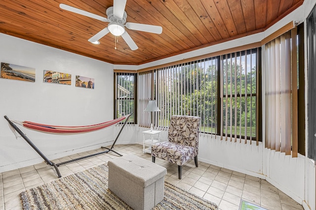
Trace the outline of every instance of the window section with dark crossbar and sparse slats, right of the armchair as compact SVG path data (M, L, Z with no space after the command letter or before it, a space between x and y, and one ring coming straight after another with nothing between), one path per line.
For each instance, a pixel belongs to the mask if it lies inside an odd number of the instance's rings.
M222 56L221 131L226 140L256 138L258 53L252 49Z

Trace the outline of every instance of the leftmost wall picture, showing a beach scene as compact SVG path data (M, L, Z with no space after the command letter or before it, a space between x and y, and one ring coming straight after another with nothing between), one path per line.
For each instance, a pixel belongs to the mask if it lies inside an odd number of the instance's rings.
M1 62L1 78L35 82L35 68Z

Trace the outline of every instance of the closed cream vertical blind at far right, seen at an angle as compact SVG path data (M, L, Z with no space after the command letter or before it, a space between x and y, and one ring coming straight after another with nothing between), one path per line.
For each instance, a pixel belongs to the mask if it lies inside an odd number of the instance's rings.
M265 45L265 147L297 157L296 28Z

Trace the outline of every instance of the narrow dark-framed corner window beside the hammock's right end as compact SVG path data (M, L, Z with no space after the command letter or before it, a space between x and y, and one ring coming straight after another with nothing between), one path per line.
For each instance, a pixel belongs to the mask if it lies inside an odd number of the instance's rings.
M128 123L137 123L136 98L137 87L136 73L115 73L115 103L114 103L114 118L119 118L124 115L133 114Z

